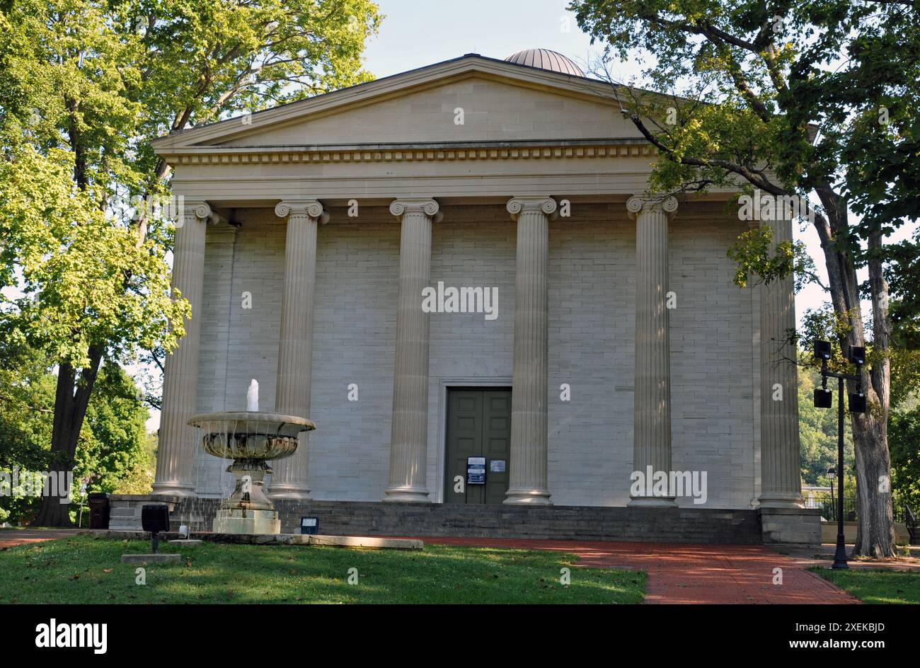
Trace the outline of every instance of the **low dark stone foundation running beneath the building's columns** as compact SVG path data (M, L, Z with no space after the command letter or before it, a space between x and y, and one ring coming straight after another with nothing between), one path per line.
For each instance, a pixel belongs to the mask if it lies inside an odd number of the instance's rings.
M211 531L220 499L114 495L113 530L139 530L141 506L167 502L170 524ZM655 543L770 542L756 510L608 506L508 506L371 501L276 501L282 533L299 533L301 517L319 519L328 536L455 536ZM810 515L817 526L817 516ZM795 536L805 536L797 531ZM774 538L775 539L775 538Z

